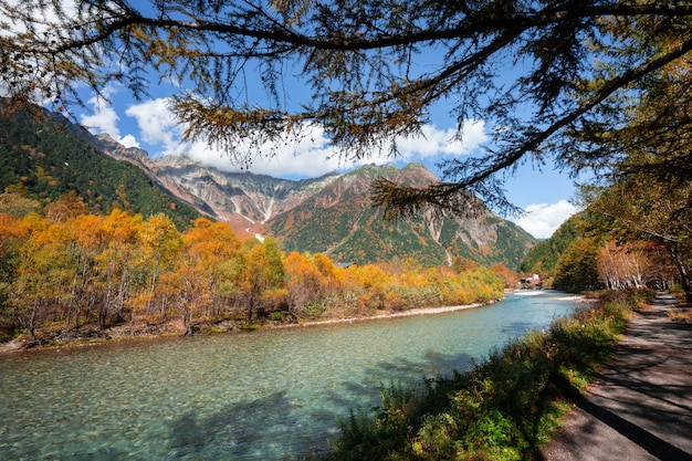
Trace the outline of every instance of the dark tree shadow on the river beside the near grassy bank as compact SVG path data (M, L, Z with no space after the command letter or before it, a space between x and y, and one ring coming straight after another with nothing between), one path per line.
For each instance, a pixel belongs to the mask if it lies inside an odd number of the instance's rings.
M338 433L336 422L347 418L349 410L373 410L381 404L381 386L400 384L415 388L426 378L438 376L438 370L451 374L472 363L466 354L449 356L436 352L429 352L424 363L382 360L368 369L368 374L395 377L390 381L379 383L377 387L343 383L319 396L321 400L329 402L329 409L313 408L307 413L302 405L291 401L285 391L230 404L209 415L190 411L170 425L167 459L291 460L324 454L329 451L329 440ZM431 373L410 375L411 369L426 367Z

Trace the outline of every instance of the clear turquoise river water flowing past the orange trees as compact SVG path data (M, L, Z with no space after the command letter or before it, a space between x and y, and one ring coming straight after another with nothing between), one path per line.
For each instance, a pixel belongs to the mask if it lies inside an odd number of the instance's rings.
M575 307L453 313L0 356L0 460L296 460L381 385L463 370Z

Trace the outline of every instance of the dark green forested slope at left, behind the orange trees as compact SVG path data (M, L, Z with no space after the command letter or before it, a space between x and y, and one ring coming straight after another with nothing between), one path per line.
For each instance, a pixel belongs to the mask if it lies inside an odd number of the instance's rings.
M21 187L54 201L74 191L92 212L117 206L144 217L165 213L181 229L199 212L161 190L136 166L115 160L75 135L64 117L35 109L9 113L0 101L0 192Z

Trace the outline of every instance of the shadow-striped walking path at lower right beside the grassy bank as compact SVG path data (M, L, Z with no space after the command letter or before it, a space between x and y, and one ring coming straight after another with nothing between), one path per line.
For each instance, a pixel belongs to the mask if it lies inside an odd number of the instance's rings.
M546 461L692 461L692 325L672 322L671 308L661 294L630 321Z

